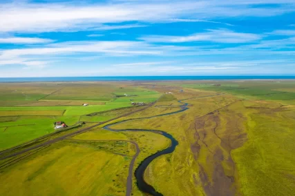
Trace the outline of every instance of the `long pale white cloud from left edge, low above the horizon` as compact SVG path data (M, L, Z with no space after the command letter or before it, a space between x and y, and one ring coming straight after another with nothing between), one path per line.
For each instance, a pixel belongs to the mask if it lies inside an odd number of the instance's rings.
M94 55L95 57L175 55L200 49L190 46L159 46L144 41L66 41L45 46L0 50L0 61L15 58L59 57L60 55ZM68 57L70 58L70 57Z

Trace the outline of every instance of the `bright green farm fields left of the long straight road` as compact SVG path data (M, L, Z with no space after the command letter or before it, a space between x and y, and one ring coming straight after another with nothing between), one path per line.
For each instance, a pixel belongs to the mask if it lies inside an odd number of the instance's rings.
M136 96L115 97L115 93L123 92ZM131 107L130 99L151 103L160 97L160 93L153 90L130 84L104 82L11 83L0 87L0 95L0 127L5 128L5 131L0 133L3 139L0 150L54 133L55 121L65 121L68 126L79 121L106 121L117 115L86 115ZM82 106L84 103L89 106ZM118 115L122 115L123 112L119 112Z

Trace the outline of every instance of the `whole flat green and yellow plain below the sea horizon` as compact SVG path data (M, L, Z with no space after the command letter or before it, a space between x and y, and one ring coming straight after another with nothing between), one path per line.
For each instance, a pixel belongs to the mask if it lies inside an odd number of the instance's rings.
M7 83L0 95L1 195L295 193L295 81Z

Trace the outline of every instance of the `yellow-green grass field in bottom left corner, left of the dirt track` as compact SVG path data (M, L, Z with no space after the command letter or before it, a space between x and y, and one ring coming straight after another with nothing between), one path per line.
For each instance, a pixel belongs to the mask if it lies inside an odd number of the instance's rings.
M1 169L0 195L125 195L130 160L61 142Z

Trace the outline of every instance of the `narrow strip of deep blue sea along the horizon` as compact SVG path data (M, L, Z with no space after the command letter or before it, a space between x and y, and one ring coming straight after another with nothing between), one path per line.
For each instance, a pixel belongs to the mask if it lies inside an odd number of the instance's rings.
M295 79L295 76L126 76L126 77L2 77L0 82L23 81L161 81L161 80Z

